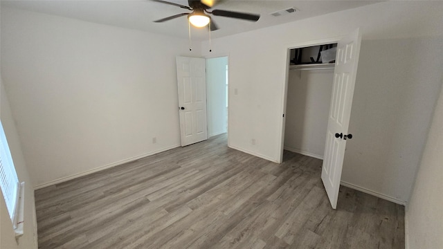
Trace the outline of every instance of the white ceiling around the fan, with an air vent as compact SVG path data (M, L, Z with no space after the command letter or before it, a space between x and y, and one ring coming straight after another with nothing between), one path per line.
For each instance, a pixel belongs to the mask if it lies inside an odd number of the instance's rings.
M188 1L170 0L173 3L188 6ZM325 15L330 12L357 8L379 1L235 1L224 0L219 2L213 9L233 10L239 12L250 12L260 14L260 20L257 22L244 21L240 19L232 19L227 17L213 17L213 20L219 26L219 30L211 33L213 38L223 37L242 33L248 30L264 28L278 24L287 23ZM172 19L164 23L154 23L154 20L171 15L177 15L188 10L170 6L168 4L158 3L150 0L53 0L53 1L37 1L37 0L14 0L1 1L1 6L10 8L21 8L35 12L44 12L51 15L59 15L62 17L70 17L83 21L91 21L98 24L107 24L118 26L121 28L129 28L135 30L143 30L152 33L161 33L173 37L188 38L188 21L186 16ZM273 17L269 15L271 12L296 7L298 12L291 15ZM192 28L192 39L207 39L208 30L197 30Z

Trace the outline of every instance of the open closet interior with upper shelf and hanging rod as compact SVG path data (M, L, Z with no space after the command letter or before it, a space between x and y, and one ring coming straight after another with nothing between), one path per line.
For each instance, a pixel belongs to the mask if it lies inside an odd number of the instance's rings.
M284 149L323 160L336 43L289 49Z

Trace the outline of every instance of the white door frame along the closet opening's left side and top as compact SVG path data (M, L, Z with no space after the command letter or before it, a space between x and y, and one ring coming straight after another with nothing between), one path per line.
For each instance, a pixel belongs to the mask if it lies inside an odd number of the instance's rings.
M291 56L291 49L293 48L305 48L308 46L318 46L323 44L333 44L337 43L343 39L343 36L340 37L329 37L325 39L316 39L316 40L309 40L306 42L297 42L295 44L287 44L284 46L284 93L283 93L283 102L282 102L282 114L286 114L286 105L287 105L287 98L288 98L288 84L289 84L289 59ZM332 93L331 93L332 94ZM278 160L278 163L283 162L283 151L284 151L284 131L286 128L286 117L282 115L282 123L281 123L281 130L280 130L280 158ZM326 132L326 131L325 131ZM326 140L325 140L326 142Z

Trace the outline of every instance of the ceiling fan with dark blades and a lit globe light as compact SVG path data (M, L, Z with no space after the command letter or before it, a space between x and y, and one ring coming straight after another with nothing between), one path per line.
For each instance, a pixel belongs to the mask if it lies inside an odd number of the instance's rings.
M184 8L186 10L191 10L190 13L181 13L178 15L173 15L170 17L165 17L163 19L156 20L154 22L163 22L163 21L169 21L171 19L182 17L187 15L190 24L197 28L204 27L210 23L210 30L214 31L217 30L218 27L214 23L214 21L211 19L211 17L207 14L215 15L215 16L221 16L221 17L232 17L237 19L244 19L248 21L258 21L260 19L260 15L257 14L250 14L245 12L235 12L230 10L208 10L215 6L215 0L188 0L189 6L183 6L179 3L171 3L168 1L162 1L162 0L152 0L159 3L166 3L172 6L177 6L180 8Z

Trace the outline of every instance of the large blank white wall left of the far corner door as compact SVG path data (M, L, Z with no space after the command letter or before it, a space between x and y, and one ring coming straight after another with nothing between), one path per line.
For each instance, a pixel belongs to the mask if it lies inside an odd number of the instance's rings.
M1 51L35 186L179 146L186 39L2 8Z

